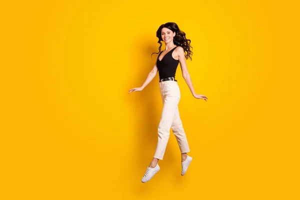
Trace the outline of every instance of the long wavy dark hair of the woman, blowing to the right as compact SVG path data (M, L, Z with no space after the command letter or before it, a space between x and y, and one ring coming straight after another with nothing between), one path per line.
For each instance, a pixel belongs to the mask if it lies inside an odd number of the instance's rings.
M158 54L161 50L161 45L162 45L161 41L163 41L162 38L161 38L161 29L162 28L168 28L172 32L176 32L175 36L173 37L174 44L177 45L177 46L181 46L184 49L185 59L189 58L191 60L192 46L190 45L190 39L186 39L185 32L180 30L178 25L174 22L167 22L167 23L161 24L159 26L159 28L156 31L156 37L158 37L157 43L159 43L160 45L158 47L158 52L157 53L153 52L153 53ZM151 54L151 56L152 56L152 54Z

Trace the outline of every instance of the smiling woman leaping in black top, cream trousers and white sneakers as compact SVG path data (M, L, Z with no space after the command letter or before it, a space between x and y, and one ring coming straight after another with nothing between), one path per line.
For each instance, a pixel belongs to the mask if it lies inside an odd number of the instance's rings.
M159 54L157 53L157 60L152 70L149 72L141 87L129 89L129 93L132 91L141 91L154 78L157 71L159 71L159 87L163 108L158 125L158 142L153 159L141 179L142 182L149 181L153 175L159 171L160 168L158 160L162 160L163 158L170 134L170 128L173 130L181 152L181 175L184 175L192 160L192 157L187 155L187 152L189 152L189 146L178 111L180 90L177 80L175 80L175 72L179 62L182 76L192 95L195 98L201 98L205 101L207 100L206 96L196 94L194 92L193 85L186 68L185 59L191 59L192 51L190 50L190 40L186 39L185 33L178 28L176 23L168 22L159 26L156 31L156 36L158 37L158 43L160 46L158 47ZM165 49L160 52L162 45L161 41L164 42Z

